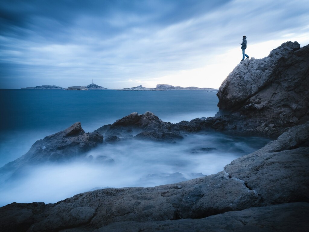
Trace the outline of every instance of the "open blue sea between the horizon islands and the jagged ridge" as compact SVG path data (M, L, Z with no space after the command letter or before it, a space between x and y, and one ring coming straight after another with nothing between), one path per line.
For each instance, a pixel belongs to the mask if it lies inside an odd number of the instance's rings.
M1 89L0 166L75 122L92 132L130 113L151 111L175 123L214 116L217 103L216 92L207 91Z

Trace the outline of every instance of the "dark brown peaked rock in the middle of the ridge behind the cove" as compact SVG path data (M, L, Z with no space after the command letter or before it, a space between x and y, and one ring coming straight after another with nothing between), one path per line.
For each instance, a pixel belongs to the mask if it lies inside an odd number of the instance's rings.
M112 125L105 125L95 130L105 137L116 136L136 139L168 141L183 139L179 131L169 130L170 123L163 122L152 112L138 114L136 112L125 116Z

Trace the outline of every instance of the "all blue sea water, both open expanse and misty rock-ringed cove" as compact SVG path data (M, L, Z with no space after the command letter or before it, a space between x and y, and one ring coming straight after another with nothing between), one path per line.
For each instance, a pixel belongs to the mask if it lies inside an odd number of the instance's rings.
M92 132L128 114L153 112L176 123L212 117L217 92L205 90L0 90L0 166L21 157L36 140L81 122ZM122 141L99 145L87 157L112 162L72 161L32 166L25 176L1 181L0 206L12 202L55 203L105 187L152 187L215 174L232 160L252 153L269 140L219 132L184 135L177 143Z

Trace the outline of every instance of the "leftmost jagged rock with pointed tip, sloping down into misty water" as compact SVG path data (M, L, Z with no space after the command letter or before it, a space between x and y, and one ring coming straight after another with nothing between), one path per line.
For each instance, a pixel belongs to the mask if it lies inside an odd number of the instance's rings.
M37 140L22 157L4 165L0 171L12 171L25 165L36 165L47 161L67 161L83 156L85 152L103 142L98 132L85 133L80 122L74 123L64 131Z

